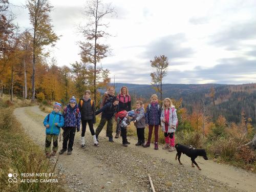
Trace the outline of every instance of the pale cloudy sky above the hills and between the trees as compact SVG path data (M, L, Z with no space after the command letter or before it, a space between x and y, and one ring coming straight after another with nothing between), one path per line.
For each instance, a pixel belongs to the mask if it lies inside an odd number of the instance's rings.
M150 84L155 56L168 57L163 83L256 82L256 1L104 1L116 14L107 16L111 37L100 39L111 53L98 65L111 71L112 82ZM10 0L18 6L26 1ZM58 66L80 61L78 26L88 19L87 1L52 0L52 24L61 35L51 49ZM12 7L20 30L30 29L28 10Z

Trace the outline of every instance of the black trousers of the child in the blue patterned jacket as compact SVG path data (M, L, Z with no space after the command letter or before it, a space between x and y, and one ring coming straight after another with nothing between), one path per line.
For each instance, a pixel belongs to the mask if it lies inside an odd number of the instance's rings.
M72 127L72 126L64 127L63 142L62 142L63 150L65 150L65 151L67 150L68 141L69 141L68 149L71 151L73 150L72 147L74 144L75 134L76 134L76 127Z

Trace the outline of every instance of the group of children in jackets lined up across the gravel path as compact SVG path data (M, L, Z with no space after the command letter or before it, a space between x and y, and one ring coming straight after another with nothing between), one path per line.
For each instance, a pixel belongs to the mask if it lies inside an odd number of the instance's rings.
M112 88L111 88L112 89ZM127 89L127 88L126 88ZM121 89L122 90L122 89ZM72 97L69 104L63 109L63 115L60 113L61 104L55 103L53 105L53 111L46 116L44 125L46 126L46 156L54 156L58 150L58 135L60 134L60 128L63 129L63 143L62 149L59 154L63 154L68 151L68 155L72 154L75 132L80 131L80 122L82 124L82 133L80 144L84 148L86 132L86 125L89 124L89 129L93 137L93 143L95 146L99 146L98 136L107 122L106 136L109 137L110 142L113 141L113 119L115 117L117 121L117 127L120 127L122 145L127 147L130 142L127 141L127 127L131 122L134 122L137 130L138 142L136 146L149 147L153 134L155 133L155 150L158 150L158 130L159 125L162 127L162 131L165 136L165 145L163 150L170 152L175 150L175 136L174 133L177 129L178 118L176 114L175 106L169 98L165 98L163 106L158 103L158 97L156 94L151 96L151 103L148 104L146 112L144 111L144 105L142 101L136 102L136 109L131 111L118 109L119 98L114 96L110 91L107 95L103 95L104 103L101 108L96 111L94 101L90 98L90 90L86 90L84 96L79 100L77 104L76 98ZM105 97L104 97L105 96ZM94 132L93 124L96 122L96 115L101 114L100 123ZM148 139L145 143L144 131L148 126ZM53 140L53 149L51 152L51 142Z

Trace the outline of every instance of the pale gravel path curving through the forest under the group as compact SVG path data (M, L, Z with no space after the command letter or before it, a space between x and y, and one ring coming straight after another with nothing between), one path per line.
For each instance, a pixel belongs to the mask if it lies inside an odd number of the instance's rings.
M31 138L44 147L47 115L38 106L18 108L14 115ZM121 146L121 139L108 142L105 131L99 137L100 147L92 145L86 134L87 147L79 147L76 134L71 156L58 156L60 175L66 178L68 191L150 191L147 174L152 176L156 191L255 191L256 176L245 170L198 158L202 168L190 167L190 159L182 155L184 165L175 161L176 153L155 151L152 147ZM89 131L90 132L90 131ZM59 150L62 143L59 143Z

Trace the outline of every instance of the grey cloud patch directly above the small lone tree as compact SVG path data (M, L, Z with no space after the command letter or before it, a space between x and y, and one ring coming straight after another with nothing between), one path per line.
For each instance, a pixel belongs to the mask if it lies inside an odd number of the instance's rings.
M148 59L156 55L165 55L169 59L189 57L194 51L189 47L182 47L181 44L184 42L186 42L184 33L161 37L146 45L144 57Z

